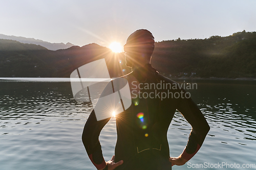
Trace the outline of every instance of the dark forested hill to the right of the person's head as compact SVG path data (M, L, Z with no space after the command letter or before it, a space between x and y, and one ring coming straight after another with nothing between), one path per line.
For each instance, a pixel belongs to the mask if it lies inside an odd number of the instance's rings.
M256 32L156 42L152 65L172 78L256 78Z

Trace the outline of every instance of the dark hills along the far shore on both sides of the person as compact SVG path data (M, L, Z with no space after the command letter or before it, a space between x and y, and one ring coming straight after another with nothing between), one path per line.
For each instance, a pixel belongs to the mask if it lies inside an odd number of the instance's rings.
M256 78L256 32L205 39L156 42L152 65L171 77ZM84 64L105 58L110 76L131 71L124 53L92 43L50 51L35 44L0 39L0 77L69 77ZM171 75L171 76L170 76Z

